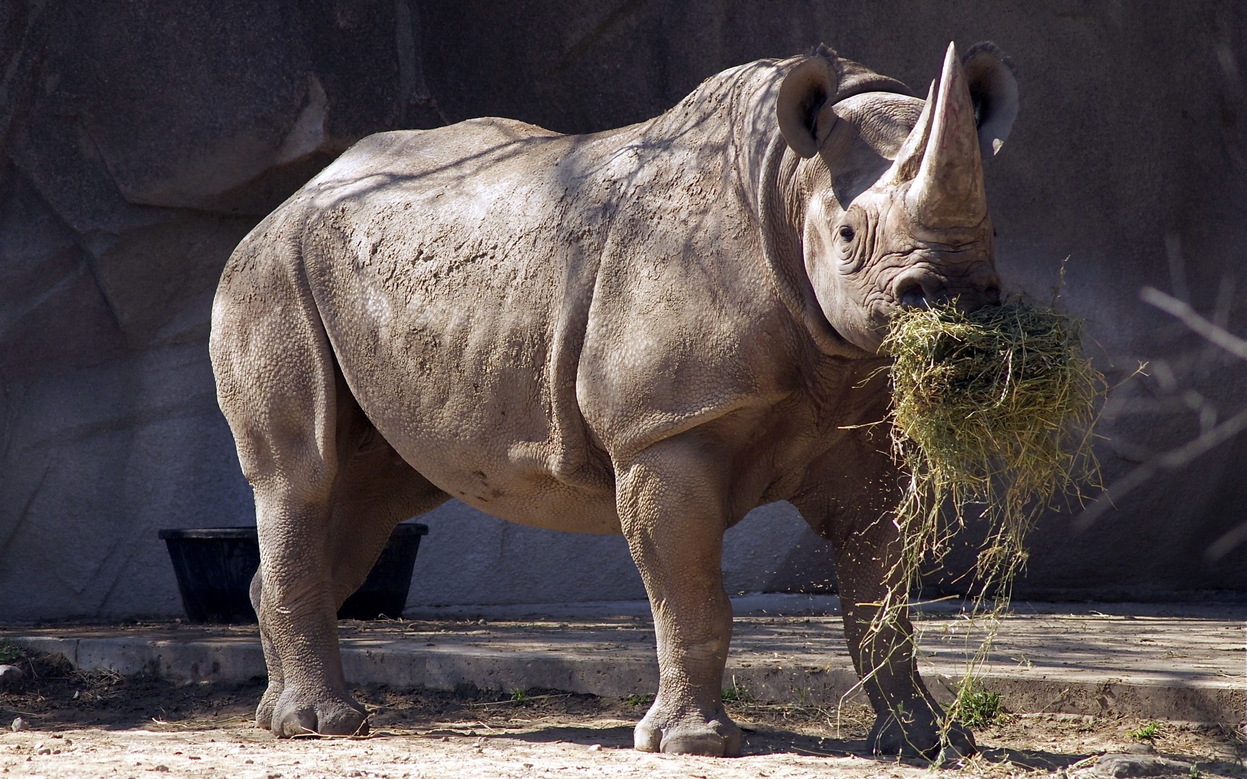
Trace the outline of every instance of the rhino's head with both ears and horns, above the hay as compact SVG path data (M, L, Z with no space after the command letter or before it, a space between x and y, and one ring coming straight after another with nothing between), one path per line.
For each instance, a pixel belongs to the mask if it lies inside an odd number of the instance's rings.
M873 353L897 307L998 302L983 158L1018 112L1000 51L979 45L963 62L950 45L925 101L835 93L834 66L816 55L784 77L777 103L784 141L806 158L784 199L803 206L806 272L827 320Z

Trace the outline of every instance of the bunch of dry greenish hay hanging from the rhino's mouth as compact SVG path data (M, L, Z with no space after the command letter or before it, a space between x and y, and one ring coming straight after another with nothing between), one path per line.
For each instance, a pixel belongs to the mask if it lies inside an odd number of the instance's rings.
M1104 378L1082 354L1076 320L1021 302L969 314L899 310L883 350L894 358L889 421L905 482L893 517L900 556L874 629L894 624L922 567L944 557L968 515L988 527L974 611L990 596L994 617L1008 607L1036 516L1097 481L1091 428ZM976 662L963 689L974 688ZM954 703L949 720L958 714Z

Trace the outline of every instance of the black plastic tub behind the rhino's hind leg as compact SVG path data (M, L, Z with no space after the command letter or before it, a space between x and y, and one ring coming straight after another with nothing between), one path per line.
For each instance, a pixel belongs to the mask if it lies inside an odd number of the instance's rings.
M338 618L400 618L420 536L428 532L419 522L395 527L368 580L342 605ZM254 527L162 530L158 535L168 547L191 622L256 622L251 580L259 567L259 540Z

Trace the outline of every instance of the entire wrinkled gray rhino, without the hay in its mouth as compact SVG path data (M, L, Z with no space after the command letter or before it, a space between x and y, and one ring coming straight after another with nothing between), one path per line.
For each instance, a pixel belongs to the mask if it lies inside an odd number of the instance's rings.
M850 426L885 413L897 305L998 295L980 147L1008 135L1015 82L988 46L964 69L950 49L940 85L923 101L819 49L590 136L382 133L264 219L211 343L256 494L257 724L367 727L334 612L397 522L454 496L622 532L661 669L637 749L738 754L722 537L788 500L833 542L849 648L875 671L872 745L936 750L909 622L863 639L898 492L884 435ZM969 732L951 747L971 752Z

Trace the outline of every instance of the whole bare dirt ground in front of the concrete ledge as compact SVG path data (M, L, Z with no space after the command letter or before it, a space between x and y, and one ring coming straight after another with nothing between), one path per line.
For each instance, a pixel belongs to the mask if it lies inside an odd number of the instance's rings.
M642 754L632 725L646 700L556 691L488 693L360 688L373 709L365 738L276 740L251 725L262 692L239 686L177 687L143 678L81 673L62 662L16 661L26 679L0 693L0 717L31 729L0 734L0 773L15 777L170 777L383 779L479 777L889 777L928 774L925 763L869 755L872 715L818 707L728 704L746 728L737 759ZM981 754L950 777L1085 775L1095 758L1139 739L1148 723L1069 714L1001 715L976 732ZM1193 765L1183 777L1243 777L1243 744L1230 730L1158 723L1156 750Z

